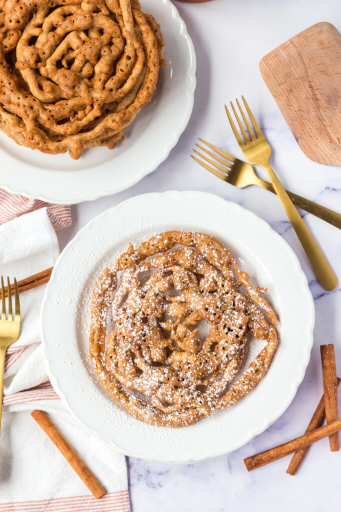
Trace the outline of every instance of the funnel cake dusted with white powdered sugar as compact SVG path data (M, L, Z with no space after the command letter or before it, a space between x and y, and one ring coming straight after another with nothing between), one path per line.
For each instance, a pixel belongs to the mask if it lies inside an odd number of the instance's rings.
M89 350L99 379L128 413L154 425L190 425L232 406L277 348L265 291L209 234L167 231L130 244L93 292ZM251 336L265 346L237 375Z

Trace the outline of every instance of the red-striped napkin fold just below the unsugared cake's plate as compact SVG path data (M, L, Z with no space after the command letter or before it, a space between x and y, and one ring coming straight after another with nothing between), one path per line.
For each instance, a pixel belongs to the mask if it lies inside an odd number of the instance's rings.
M71 226L71 206L44 203L39 199L17 196L0 188L0 224L43 207L47 208L50 222L56 231Z

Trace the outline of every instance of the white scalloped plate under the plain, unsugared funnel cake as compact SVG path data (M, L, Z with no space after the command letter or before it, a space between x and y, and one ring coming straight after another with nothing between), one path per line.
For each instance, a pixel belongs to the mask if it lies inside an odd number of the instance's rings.
M74 204L132 186L156 169L185 130L193 109L195 53L185 23L169 0L142 0L160 23L167 67L153 99L125 131L115 150L95 147L79 160L44 155L0 132L0 186L49 203Z

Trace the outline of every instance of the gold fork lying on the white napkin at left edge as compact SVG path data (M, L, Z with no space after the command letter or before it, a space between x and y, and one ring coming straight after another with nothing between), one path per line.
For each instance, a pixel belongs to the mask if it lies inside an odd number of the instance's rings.
M8 290L11 289L10 280L7 278ZM15 311L14 319L12 312L12 295L8 295L8 318L6 319L6 300L4 279L1 276L1 291L3 312L0 319L0 429L1 429L1 413L3 407L3 391L4 391L4 371L5 371L5 355L6 350L12 343L16 342L20 331L20 303L19 291L16 279L14 278L14 295L15 295Z

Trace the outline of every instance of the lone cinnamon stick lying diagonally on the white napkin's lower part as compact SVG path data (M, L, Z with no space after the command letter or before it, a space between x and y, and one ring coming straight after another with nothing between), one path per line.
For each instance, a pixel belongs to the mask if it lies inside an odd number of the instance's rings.
M42 411L35 410L31 413L42 430L49 436L51 441L57 446L58 450L77 473L79 478L85 483L86 487L95 496L96 499L106 494L106 490L99 483L97 478L90 472L89 468L78 457L72 446L61 435L49 417Z

